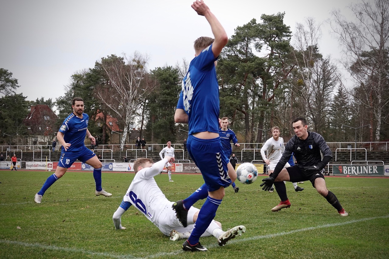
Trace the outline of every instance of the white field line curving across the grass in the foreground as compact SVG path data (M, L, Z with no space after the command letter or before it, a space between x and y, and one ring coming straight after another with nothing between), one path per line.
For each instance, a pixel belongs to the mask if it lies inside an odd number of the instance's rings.
M357 222L371 221L371 220L375 220L375 219L387 219L387 218L389 218L389 215L380 216L380 217L365 218L365 219L356 219L356 220L353 220L353 221L346 221L346 222L340 222L340 223L324 224L324 225L315 226L315 227L295 229L295 230L291 230L291 231L288 231L288 232L280 232L280 233L269 234L269 235L261 235L261 236L252 236L252 237L249 237L249 238L237 238L237 239L231 240L228 243L241 243L241 242L246 242L246 241L259 240L259 239L263 239L263 238L272 238L272 237L275 237L275 236L290 235L290 234L294 234L294 233L298 233L298 232L303 232L303 231L314 230L314 229L332 228L332 227L335 227L335 226L343 226L343 225L353 224L353 223L357 223ZM125 254L125 255L122 254L122 255L120 255L120 254L111 254L111 253L101 253L101 252L88 251L88 250L85 250L85 249L73 249L73 248L67 248L67 247L57 247L57 246L54 246L54 245L42 245L42 244L39 244L39 243L25 243L25 242L10 241L10 240L0 240L0 243L9 244L9 245L20 245L20 246L23 246L23 247L36 247L36 248L39 248L39 249L47 249L47 250L57 250L57 251L64 251L64 252L76 252L76 253L88 254L88 255L91 255L91 256L102 256L102 257L111 257L111 258L119 258L119 259L122 259L122 258L123 259L124 258L133 258L133 259L137 259L137 258L156 258L156 257L163 257L163 256L172 256L172 255L184 252L182 250L179 250L179 251L175 251L175 252L161 252L161 253L152 254L152 255L148 255L148 256L136 257L136 256L132 256L132 255L129 255L129 254ZM207 247L208 248L214 248L214 247L218 247L218 245L217 244L207 245Z

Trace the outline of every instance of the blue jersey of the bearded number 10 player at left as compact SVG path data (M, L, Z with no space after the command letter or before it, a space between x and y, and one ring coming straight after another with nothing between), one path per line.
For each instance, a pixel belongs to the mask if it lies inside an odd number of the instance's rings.
M82 114L82 119L72 113L63 121L59 131L64 134L63 139L65 142L72 144L67 151L80 151L83 149L88 121L89 116L86 113ZM62 147L61 152L65 152L64 147Z

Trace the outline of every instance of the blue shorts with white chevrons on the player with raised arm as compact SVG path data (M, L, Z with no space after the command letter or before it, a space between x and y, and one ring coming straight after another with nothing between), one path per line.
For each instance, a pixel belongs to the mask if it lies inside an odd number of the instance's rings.
M220 137L200 139L189 135L186 148L200 169L208 191L219 190L221 186L224 188L230 186L231 179L227 168L230 160L223 154Z

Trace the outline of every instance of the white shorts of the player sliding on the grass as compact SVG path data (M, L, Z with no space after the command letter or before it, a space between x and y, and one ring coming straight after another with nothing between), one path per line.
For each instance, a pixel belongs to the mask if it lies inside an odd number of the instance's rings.
M158 217L158 223L156 226L166 236L169 236L170 232L173 229L180 233L184 233L187 231L191 232L195 227L195 222L193 222L193 216L196 214L196 212L199 211L199 209L193 206L189 208L187 217L188 225L186 228L184 228L175 216L175 211L172 208L173 203L174 202L172 202L170 205L166 205L165 209ZM210 233L207 233L206 231L202 236L210 236Z

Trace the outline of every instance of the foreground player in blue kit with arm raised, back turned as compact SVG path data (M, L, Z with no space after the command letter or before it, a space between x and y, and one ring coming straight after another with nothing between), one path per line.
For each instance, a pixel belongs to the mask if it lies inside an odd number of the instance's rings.
M230 186L231 180L235 181L237 175L229 159L223 154L219 137L220 103L215 65L228 42L228 37L223 26L203 1L194 2L192 8L198 15L205 16L215 39L200 37L195 41L195 58L189 64L182 81L182 91L174 120L189 124L187 151L205 181L199 189L206 189L208 192L207 200L198 214L196 226L182 244L182 249L206 251L207 249L199 242L200 236L214 219L224 197L224 188ZM177 201L172 206L184 227L187 225L187 211L200 197L192 197L190 201L188 198Z

